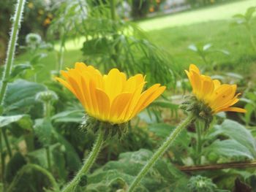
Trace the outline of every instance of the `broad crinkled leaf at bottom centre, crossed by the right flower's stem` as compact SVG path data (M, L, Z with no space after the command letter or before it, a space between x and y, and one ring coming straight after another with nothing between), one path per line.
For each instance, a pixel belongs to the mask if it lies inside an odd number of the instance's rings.
M152 155L150 150L144 149L121 153L118 161L109 161L105 166L89 175L89 185L86 191L95 188L96 191L99 191L99 186L105 186L105 191L124 189L134 180ZM182 184L179 184L180 182ZM185 174L176 169L175 166L159 160L143 178L136 191L170 191L170 188L172 191L184 191L186 190L186 183Z

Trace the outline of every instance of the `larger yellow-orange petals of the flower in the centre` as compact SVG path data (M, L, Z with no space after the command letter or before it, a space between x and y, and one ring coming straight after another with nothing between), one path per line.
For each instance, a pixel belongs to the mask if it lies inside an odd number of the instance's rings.
M127 79L123 72L111 69L102 75L83 63L76 63L75 69L61 74L66 80L56 80L79 99L91 117L115 124L129 121L165 91L165 86L159 84L143 91L146 82L142 74Z

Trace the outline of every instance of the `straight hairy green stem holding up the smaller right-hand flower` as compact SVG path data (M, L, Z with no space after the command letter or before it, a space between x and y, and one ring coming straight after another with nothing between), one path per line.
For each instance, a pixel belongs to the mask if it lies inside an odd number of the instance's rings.
M159 147L159 149L154 153L154 155L151 157L151 159L148 161L148 163L143 167L143 169L140 170L137 177L135 177L135 180L133 180L132 184L129 186L128 192L132 192L135 190L136 186L140 183L140 180L145 177L145 175L148 173L149 169L151 169L152 166L157 162L157 160L165 153L165 151L170 147L170 145L173 143L173 141L176 139L178 134L181 133L181 131L189 126L189 124L194 120L194 116L192 114L189 114L187 119L185 119L176 129L174 129L173 132L170 133L170 136L167 137L165 142Z

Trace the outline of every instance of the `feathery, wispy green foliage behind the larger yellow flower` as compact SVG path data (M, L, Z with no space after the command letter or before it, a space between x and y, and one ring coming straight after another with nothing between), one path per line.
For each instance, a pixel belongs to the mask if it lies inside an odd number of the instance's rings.
M135 23L119 19L113 10L116 4L111 2L93 6L93 1L87 1L87 4L64 1L58 10L64 15L53 20L50 32L59 32L61 46L68 37L78 34L85 37L81 49L84 60L97 64L105 72L113 67L129 75L143 72L148 82L173 85L176 76L169 67L171 64L165 50L152 44ZM63 34L63 31L69 32Z

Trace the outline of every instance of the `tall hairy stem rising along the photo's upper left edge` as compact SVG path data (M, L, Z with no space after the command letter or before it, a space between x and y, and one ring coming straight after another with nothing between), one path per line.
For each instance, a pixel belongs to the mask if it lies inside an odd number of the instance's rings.
M5 61L4 74L1 81L0 88L0 106L4 101L4 95L7 90L8 78L12 69L12 63L15 55L15 46L18 39L18 32L20 28L20 20L22 18L23 8L26 0L17 0L17 7L15 9L14 22L12 23L11 37L7 49L7 59Z

